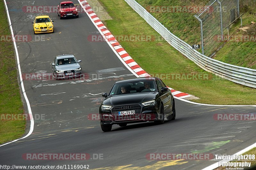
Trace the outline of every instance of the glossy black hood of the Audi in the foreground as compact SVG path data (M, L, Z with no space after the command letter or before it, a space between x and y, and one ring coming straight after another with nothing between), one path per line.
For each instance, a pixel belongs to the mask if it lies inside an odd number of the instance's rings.
M150 100L154 100L157 92L143 92L143 93L132 93L132 94L124 94L124 95L115 95L106 98L103 101L103 105L125 105L125 104L141 104L144 102L148 102Z

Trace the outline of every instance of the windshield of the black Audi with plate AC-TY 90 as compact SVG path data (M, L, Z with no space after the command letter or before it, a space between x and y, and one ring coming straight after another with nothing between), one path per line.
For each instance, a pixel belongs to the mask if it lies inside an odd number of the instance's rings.
M133 81L129 83L116 83L110 91L110 96L131 94L131 93L143 93L156 91L155 81Z

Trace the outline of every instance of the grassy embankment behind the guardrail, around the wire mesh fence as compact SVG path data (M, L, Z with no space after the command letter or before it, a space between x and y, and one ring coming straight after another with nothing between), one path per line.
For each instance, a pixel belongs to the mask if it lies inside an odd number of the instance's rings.
M204 6L209 0L137 0L144 8L148 6ZM249 26L251 21L256 21L256 5L253 0L240 0L240 14L243 15L243 26ZM148 10L149 11L149 10ZM199 21L194 17L195 13L180 12L151 12L168 30L188 44L201 44ZM225 13L224 13L225 14ZM231 27L231 35L246 35L237 32L240 20ZM225 30L225 29L224 29ZM255 35L254 35L255 36ZM227 42L216 53L217 60L236 66L256 69L256 42Z

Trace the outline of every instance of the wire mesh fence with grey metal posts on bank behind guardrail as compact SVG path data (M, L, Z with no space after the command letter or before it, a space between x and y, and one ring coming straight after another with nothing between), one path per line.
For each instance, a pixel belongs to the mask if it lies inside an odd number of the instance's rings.
M205 7L195 17L201 26L202 53L210 56L224 43L218 37L227 35L225 27L239 16L239 0L211 0Z

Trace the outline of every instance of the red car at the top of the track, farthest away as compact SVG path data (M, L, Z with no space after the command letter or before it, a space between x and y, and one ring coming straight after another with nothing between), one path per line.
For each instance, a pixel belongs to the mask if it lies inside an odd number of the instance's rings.
M72 1L63 1L58 5L58 16L60 16L60 19L67 17L79 17L77 8Z

